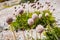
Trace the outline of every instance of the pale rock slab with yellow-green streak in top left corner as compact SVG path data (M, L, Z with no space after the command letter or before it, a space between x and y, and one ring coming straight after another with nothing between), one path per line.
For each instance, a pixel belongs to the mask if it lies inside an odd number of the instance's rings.
M0 3L0 10L5 9L6 7L10 7L16 4L19 4L21 0L9 0Z

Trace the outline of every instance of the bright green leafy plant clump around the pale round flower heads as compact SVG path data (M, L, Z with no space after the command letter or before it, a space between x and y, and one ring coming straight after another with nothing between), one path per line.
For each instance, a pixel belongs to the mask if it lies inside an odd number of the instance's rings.
M32 17L32 15L36 13L38 16L39 14L42 14L42 18L37 18L34 21L34 24L32 26L28 25L28 19ZM37 25L41 24L45 28L45 36L46 40L59 40L60 38L60 28L56 27L54 25L55 18L52 16L52 13L49 10L44 10L42 12L35 11L34 13L22 13L16 16L16 20L11 23L12 28L14 30L30 30L35 29ZM48 16L45 16L45 14L48 13Z

